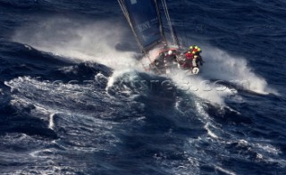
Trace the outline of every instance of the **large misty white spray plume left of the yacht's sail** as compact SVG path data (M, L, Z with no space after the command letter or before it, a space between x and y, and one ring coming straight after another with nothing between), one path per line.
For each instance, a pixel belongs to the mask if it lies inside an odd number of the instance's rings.
M14 41L28 44L38 50L63 55L81 61L95 61L114 70L140 65L134 59L135 52L116 49L122 42L127 28L114 21L90 21L83 23L65 18L53 18L38 22L37 26L19 29ZM136 67L141 69L140 66Z

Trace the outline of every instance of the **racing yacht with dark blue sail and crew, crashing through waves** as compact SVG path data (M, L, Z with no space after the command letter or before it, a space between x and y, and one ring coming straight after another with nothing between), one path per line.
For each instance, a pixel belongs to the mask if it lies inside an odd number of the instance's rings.
M144 55L142 59L148 60L147 65L143 64L145 70L170 74L182 69L189 75L198 74L198 62L186 60L188 49L181 46L165 0L118 0L118 3ZM151 51L155 54L151 55Z

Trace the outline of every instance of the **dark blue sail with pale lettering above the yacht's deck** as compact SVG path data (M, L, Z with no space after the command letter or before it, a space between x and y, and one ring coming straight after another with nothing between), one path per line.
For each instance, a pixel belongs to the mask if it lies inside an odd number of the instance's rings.
M118 0L142 52L165 41L156 0Z

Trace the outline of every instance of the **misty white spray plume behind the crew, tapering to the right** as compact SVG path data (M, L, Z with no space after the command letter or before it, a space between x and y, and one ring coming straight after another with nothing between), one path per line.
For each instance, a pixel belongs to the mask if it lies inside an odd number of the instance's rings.
M237 83L243 88L259 94L278 94L274 89L267 87L264 78L258 76L248 66L245 58L231 56L225 51L211 46L204 49L206 64L201 75L206 79L221 79Z

